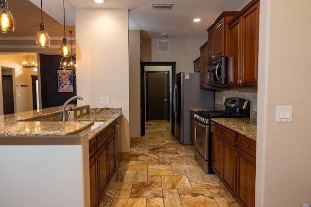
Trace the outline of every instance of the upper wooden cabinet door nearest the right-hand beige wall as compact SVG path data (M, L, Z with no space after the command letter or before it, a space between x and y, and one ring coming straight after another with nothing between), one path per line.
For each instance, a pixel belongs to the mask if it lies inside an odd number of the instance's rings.
M259 2L241 18L242 86L256 86L258 76Z

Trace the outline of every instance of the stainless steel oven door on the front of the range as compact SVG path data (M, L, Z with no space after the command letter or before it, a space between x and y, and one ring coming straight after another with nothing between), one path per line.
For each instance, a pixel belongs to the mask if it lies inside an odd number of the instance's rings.
M194 121L194 147L201 156L208 160L208 125Z

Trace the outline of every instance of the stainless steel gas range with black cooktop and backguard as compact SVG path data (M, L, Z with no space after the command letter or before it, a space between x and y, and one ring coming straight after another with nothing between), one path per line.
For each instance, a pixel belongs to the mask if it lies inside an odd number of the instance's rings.
M197 111L194 114L195 139L194 156L200 163L205 173L213 173L211 169L211 139L209 139L210 118L239 118L250 116L250 101L243 98L227 98L225 110L221 111Z

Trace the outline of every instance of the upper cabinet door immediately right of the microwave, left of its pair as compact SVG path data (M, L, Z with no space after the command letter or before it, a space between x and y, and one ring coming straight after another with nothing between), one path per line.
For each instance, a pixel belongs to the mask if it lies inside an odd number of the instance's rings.
M241 80L241 32L240 18L229 25L229 57L228 57L228 85L239 87L238 80Z

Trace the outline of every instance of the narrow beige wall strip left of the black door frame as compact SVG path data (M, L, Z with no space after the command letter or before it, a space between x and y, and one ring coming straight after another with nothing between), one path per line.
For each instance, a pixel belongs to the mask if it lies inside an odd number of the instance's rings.
M140 137L140 31L129 31L130 137Z

